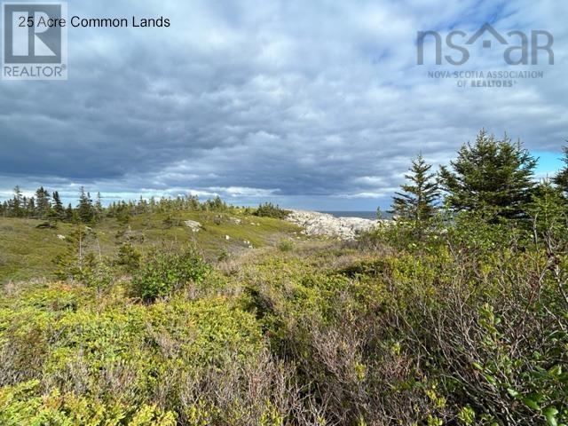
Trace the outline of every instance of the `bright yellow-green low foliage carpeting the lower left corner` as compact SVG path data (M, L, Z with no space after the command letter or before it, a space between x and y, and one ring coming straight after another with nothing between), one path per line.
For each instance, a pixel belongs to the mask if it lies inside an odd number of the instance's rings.
M144 401L263 346L256 319L219 296L143 305L56 283L4 306L0 424L175 424Z

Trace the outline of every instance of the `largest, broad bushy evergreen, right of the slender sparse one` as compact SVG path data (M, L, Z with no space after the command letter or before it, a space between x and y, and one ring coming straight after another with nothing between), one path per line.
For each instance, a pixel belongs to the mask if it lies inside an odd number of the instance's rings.
M534 186L536 160L505 135L497 140L481 130L475 144L461 146L452 170L442 167L440 177L455 211L478 211L494 217L525 217Z

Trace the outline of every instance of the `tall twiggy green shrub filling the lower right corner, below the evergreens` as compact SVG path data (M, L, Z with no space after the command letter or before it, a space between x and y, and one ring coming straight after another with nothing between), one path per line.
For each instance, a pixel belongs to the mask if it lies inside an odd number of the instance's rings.
M528 230L462 214L423 241L407 237L385 259L379 279L389 293L375 319L382 328L377 341L398 342L413 372L405 380L435 383L446 401L422 420L566 422L568 375L560 366L568 361L561 325L567 244L565 232L557 232L565 225L551 217L556 213L540 213ZM375 347L373 356L379 354Z

